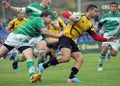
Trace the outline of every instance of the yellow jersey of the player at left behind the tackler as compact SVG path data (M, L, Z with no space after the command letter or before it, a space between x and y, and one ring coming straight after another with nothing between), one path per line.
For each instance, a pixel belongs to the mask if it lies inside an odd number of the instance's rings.
M27 22L26 18L24 18L23 20L18 20L17 18L15 18L15 19L11 20L10 23L8 24L8 29L13 29L13 31L14 31L15 29L20 27L25 22Z

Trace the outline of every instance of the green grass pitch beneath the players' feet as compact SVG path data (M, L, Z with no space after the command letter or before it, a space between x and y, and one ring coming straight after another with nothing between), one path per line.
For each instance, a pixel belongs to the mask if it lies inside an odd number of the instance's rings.
M19 72L15 72L12 61L0 60L0 86L119 86L120 83L120 54L104 63L104 70L97 71L99 54L83 54L84 64L77 78L81 83L68 84L73 60L69 63L50 67L42 75L42 82L30 83L26 63L19 63ZM37 60L35 60L37 62Z

